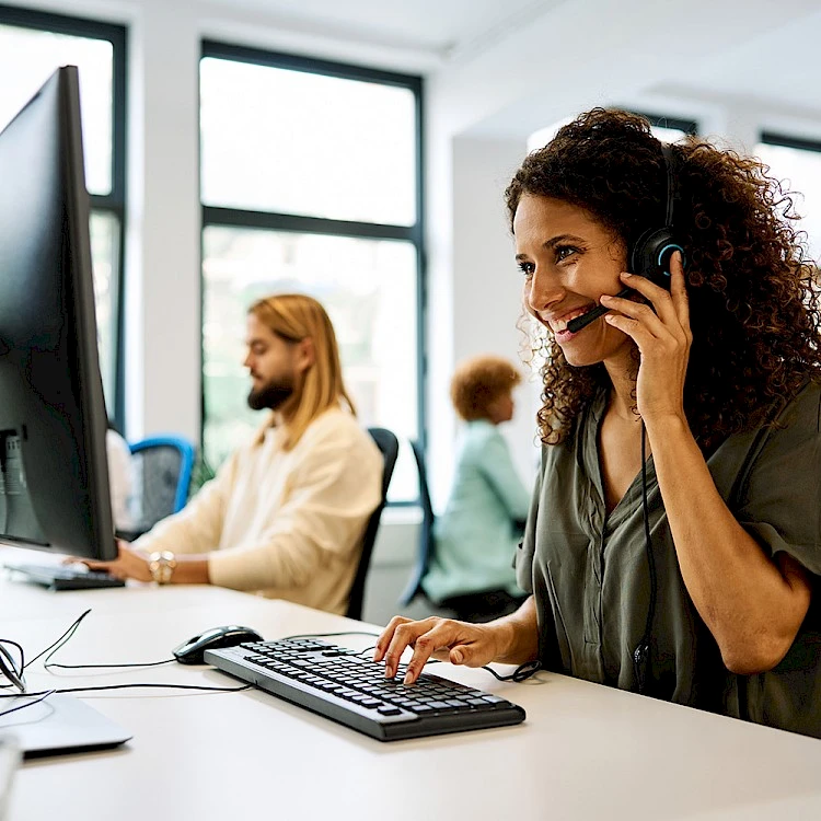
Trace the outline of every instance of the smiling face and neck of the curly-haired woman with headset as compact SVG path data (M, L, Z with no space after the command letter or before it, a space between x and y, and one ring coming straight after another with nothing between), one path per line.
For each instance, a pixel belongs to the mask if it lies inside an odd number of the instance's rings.
M632 342L599 317L576 334L567 323L622 289L624 243L578 206L525 194L513 218L527 310L548 327L570 365L629 356Z

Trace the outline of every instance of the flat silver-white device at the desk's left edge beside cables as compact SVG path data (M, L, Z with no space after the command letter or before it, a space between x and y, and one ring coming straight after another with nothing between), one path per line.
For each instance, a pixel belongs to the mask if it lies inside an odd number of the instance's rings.
M3 698L2 709L31 701ZM2 710L0 710L2 712ZM106 750L128 741L131 733L79 698L53 693L38 704L0 716L0 736L16 739L24 758ZM2 816L0 816L2 818Z

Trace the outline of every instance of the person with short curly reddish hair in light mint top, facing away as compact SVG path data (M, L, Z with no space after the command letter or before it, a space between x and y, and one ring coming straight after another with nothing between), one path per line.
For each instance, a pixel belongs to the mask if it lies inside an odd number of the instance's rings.
M513 389L520 382L516 367L494 356L461 363L451 381L451 401L464 425L421 586L431 602L469 622L512 612L525 598L516 583L513 557L530 495L498 427L513 418Z

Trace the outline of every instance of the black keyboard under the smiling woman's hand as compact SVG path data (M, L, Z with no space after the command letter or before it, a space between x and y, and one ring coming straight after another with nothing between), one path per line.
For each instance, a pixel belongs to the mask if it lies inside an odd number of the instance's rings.
M384 666L313 638L253 641L206 650L205 660L280 698L372 736L395 741L520 724L505 698L423 673L412 685L385 679Z

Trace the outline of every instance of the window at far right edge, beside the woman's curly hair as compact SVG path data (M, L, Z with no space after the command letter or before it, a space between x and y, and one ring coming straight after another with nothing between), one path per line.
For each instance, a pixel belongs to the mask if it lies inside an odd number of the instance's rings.
M795 192L793 205L807 232L810 256L821 258L821 141L799 140L764 132L755 153L771 169L771 175Z

